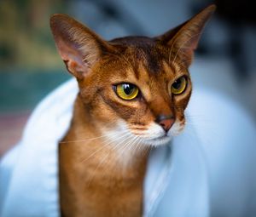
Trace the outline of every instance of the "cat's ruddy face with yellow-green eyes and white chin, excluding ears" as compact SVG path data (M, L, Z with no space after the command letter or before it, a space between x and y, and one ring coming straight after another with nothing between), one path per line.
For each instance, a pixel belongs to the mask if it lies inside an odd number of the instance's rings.
M116 53L104 54L79 81L86 109L102 128L109 127L106 132L124 131L148 145L165 144L184 127L191 94L186 66L181 60L169 60L171 49L150 38L128 37L112 43ZM172 93L172 86L181 80L182 92Z

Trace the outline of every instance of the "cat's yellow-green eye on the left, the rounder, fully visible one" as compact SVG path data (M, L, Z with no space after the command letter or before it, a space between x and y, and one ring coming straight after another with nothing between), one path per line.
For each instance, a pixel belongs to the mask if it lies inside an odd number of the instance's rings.
M120 83L116 86L116 93L123 100L132 100L137 97L139 90L131 83Z

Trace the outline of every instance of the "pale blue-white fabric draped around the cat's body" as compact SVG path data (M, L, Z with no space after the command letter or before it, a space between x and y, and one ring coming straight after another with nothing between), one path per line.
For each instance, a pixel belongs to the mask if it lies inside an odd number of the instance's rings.
M33 112L20 144L3 157L0 216L60 215L57 146L77 93L72 79L49 94ZM183 134L151 152L144 216L256 215L256 131L250 117L206 89L193 93L187 113Z

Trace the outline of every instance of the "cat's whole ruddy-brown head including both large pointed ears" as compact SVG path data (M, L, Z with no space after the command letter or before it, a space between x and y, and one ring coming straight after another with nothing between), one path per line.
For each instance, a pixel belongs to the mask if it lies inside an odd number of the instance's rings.
M67 15L51 17L56 47L77 78L84 112L96 130L153 146L183 130L192 90L188 68L214 9L209 6L159 37L108 42Z

